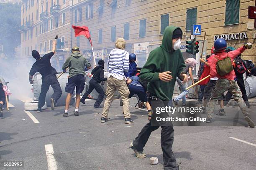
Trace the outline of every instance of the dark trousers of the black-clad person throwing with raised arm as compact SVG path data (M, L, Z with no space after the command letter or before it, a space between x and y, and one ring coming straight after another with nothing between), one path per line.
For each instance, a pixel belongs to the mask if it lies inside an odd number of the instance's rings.
M48 92L50 85L54 90L54 93L51 95L51 98L53 98L54 101L57 102L57 100L59 100L59 97L61 97L62 91L56 75L42 77L42 86L41 93L38 99L38 108L44 106L46 93Z

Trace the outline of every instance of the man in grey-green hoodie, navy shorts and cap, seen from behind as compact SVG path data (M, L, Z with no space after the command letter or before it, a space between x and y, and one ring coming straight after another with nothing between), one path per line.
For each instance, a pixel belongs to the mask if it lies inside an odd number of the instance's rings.
M79 47L72 48L72 54L67 58L64 65L62 66L63 72L66 72L67 68L69 68L69 78L68 83L65 88L65 92L67 92L66 98L66 107L63 117L67 117L70 100L72 98L72 94L76 87L76 108L74 115L79 116L78 108L80 103L80 94L84 90L85 79L84 79L84 67L87 69L91 68L90 62L80 54Z

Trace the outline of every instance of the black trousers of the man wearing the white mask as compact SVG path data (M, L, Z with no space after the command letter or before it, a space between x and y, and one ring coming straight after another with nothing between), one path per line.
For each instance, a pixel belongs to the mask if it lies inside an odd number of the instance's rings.
M152 100L148 98L148 102L151 104L153 115L156 113L157 105L152 103ZM158 104L158 107L163 107L164 105L168 105L168 101L161 101L161 105ZM151 118L151 121L153 116ZM139 152L143 152L143 148L145 147L151 132L158 129L159 126L151 125L151 121L148 122L138 134L138 136L133 140L133 148ZM161 148L163 151L163 158L164 158L164 170L178 170L176 159L174 157L174 153L172 152L172 144L174 141L174 129L172 122L168 126L161 125Z

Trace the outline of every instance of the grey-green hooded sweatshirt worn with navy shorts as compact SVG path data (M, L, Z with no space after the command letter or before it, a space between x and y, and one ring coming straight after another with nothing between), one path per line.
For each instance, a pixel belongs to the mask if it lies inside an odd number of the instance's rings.
M69 78L74 75L84 75L84 66L91 67L90 62L82 56L79 52L72 53L71 56L67 58L62 70L66 70L69 67Z

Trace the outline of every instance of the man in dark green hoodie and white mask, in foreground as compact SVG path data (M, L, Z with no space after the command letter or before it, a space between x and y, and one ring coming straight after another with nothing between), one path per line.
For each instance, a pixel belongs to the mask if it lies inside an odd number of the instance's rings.
M130 144L138 158L146 158L143 148L154 130L161 126L161 148L164 157L164 170L178 170L172 152L174 129L171 121L159 122L156 117L168 117L168 112L156 112L158 107L166 107L172 100L176 77L187 82L184 74L185 63L179 50L182 30L170 26L164 30L162 45L152 50L146 64L141 69L141 80L148 81L148 101L153 115L148 115L150 122L146 124L135 140ZM152 118L151 118L152 117Z

